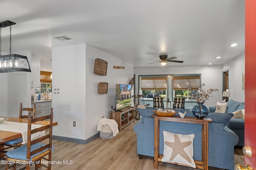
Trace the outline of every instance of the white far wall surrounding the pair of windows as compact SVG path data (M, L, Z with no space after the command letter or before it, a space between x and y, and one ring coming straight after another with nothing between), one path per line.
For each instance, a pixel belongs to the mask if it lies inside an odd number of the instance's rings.
M217 101L222 100L222 65L134 68L134 74L136 74L136 94L138 93L138 75L201 74L201 82L205 84L203 89L217 88L219 90L218 92L213 92L213 97L204 103L206 107L215 106Z

